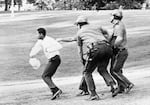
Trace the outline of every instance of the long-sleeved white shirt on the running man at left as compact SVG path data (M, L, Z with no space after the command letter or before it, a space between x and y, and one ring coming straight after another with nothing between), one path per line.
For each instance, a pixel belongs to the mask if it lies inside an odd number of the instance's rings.
M59 50L62 48L62 45L58 43L55 39L45 36L43 40L38 40L33 46L30 57L35 56L40 50L43 50L47 59L51 59L55 55L60 55Z

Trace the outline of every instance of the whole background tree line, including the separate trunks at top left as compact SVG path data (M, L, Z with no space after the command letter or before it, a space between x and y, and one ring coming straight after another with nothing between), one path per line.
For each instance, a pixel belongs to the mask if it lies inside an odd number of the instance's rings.
M28 3L35 3L43 6L48 6L48 0L27 0ZM124 9L141 9L142 4L146 0L55 0L53 4L54 9L60 10L104 10L104 9L116 9L120 6ZM21 7L22 0L14 0L14 5ZM11 6L11 0L5 0L5 11L8 11Z

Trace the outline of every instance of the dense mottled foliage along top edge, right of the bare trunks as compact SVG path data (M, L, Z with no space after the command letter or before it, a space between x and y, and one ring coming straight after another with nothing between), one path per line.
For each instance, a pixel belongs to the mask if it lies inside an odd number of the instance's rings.
M64 2L57 0L56 8L59 9L116 9L123 6L125 9L140 9L141 4L145 0L64 0Z

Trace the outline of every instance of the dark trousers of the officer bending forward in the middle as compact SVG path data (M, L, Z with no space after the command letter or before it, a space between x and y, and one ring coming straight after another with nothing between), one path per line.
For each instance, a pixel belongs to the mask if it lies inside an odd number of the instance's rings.
M88 89L90 92L95 91L95 83L92 77L92 73L97 67L97 71L105 78L109 83L114 82L111 75L107 71L109 60L112 57L112 49L107 44L100 44L95 46L96 51L92 52L92 60L87 61L85 70L83 71L83 78L81 80L80 89ZM87 87L86 87L87 85Z

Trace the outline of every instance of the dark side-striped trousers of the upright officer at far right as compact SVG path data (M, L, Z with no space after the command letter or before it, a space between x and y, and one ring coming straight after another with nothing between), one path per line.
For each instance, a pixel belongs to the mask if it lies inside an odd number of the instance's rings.
M117 80L118 85L127 88L131 82L123 75L122 68L128 57L127 49L120 51L117 55L114 55L111 60L110 73Z

